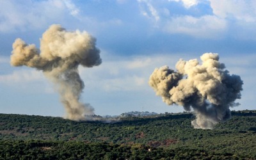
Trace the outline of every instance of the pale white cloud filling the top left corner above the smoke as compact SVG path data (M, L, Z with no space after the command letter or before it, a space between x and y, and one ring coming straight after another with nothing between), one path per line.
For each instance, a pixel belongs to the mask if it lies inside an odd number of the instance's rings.
M0 1L0 32L41 29L76 16L79 9L72 1Z

